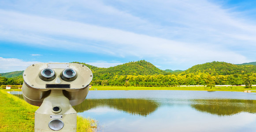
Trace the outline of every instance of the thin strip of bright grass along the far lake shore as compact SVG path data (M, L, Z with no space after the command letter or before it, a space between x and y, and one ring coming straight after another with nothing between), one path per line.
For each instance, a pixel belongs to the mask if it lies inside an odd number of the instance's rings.
M134 87L134 86L92 86L90 90L194 90L194 91L236 91L244 92L245 90L256 90L256 87L244 88L244 86L221 86L207 88L200 87ZM256 92L256 91L252 91Z

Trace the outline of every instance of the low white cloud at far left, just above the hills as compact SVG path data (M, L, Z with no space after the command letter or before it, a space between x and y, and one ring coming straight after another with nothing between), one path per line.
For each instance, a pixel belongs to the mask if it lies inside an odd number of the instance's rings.
M28 66L39 62L25 62L22 59L0 57L0 73L25 70Z

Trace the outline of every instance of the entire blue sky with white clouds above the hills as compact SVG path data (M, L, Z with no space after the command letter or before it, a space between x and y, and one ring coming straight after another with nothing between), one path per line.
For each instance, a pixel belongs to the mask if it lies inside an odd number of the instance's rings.
M256 61L256 1L0 0L0 73L141 59L162 70Z

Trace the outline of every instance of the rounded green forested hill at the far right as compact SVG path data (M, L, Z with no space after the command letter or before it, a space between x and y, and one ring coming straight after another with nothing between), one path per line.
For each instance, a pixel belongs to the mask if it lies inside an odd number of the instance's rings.
M208 62L192 66L185 73L210 73L214 75L248 74L256 73L256 66L235 65L227 62Z

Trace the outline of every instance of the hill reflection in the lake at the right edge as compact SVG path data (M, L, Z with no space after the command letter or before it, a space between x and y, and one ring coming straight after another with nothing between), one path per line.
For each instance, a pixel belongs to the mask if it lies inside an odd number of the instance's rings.
M245 99L194 99L191 105L198 111L219 116L241 112L256 113L256 100Z

